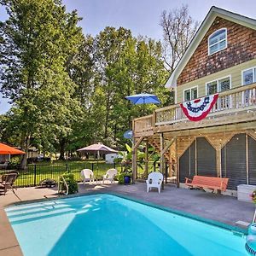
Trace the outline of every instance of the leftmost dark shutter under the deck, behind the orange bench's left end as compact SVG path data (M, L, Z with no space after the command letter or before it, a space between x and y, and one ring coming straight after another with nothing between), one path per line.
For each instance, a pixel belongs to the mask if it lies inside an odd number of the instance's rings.
M179 181L185 182L185 177L195 175L195 142L193 142L184 154L179 158Z

